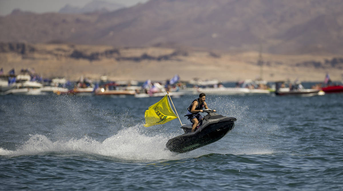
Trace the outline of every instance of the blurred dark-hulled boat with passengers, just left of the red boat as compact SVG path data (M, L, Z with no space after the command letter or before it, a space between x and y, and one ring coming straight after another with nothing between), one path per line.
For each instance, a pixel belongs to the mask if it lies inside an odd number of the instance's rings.
M288 82L288 83L287 83ZM276 81L275 82L275 95L276 96L322 96L325 94L321 89L305 89L300 82L295 82L292 85L289 81Z

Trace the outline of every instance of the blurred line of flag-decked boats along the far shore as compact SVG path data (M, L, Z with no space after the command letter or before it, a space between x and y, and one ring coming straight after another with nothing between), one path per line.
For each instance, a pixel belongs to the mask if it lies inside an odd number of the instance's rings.
M276 96L297 95L317 96L326 93L343 92L343 85L334 84L327 74L321 84L306 89L301 82L290 80L267 82L263 80L242 80L235 83L235 87L224 87L223 83L216 80L193 79L181 81L178 75L170 80L156 81L146 80L138 82L109 81L105 76L98 81L80 77L78 81L70 81L65 78L43 79L30 69L21 70L15 74L12 69L8 74L0 71L0 94L25 94L45 95L95 95L95 96L133 96L136 98L163 97L167 91L170 96L196 95L201 92L208 95L251 95L269 94Z

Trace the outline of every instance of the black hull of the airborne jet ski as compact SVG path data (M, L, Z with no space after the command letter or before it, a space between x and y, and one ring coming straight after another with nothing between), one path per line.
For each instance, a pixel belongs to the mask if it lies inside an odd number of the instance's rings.
M169 139L166 147L172 152L184 153L198 149L219 139L223 138L226 133L232 130L235 126L236 118L230 117L222 122L217 122L207 125L205 128L198 129L192 133Z

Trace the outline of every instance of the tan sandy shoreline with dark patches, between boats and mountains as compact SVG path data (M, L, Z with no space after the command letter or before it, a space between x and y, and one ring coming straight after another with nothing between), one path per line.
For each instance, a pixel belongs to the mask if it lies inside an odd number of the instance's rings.
M99 80L104 75L111 81L164 81L178 74L183 81L198 78L225 82L255 80L261 74L258 52L70 44L21 44L17 47L22 49L2 47L0 68L5 74L12 68L16 73L34 68L43 78L64 77L73 81L81 76ZM342 55L262 54L262 60L262 79L266 81L320 82L327 73L332 81L341 81L343 76Z

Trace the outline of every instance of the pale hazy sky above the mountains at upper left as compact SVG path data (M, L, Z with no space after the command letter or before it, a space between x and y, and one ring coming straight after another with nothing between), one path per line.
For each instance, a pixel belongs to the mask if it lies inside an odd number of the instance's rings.
M77 7L83 7L92 0L0 0L0 15L7 15L13 9L31 11L35 13L58 12L64 5L70 4ZM135 5L138 2L148 0L103 0L126 5L127 7Z

